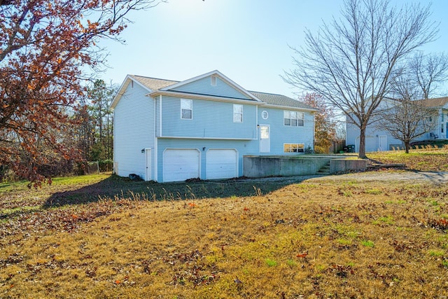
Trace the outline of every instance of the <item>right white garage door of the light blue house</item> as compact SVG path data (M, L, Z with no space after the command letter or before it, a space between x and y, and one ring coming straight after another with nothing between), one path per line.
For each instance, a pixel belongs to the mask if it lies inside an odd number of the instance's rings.
M211 149L207 151L207 179L230 179L238 176L237 151Z

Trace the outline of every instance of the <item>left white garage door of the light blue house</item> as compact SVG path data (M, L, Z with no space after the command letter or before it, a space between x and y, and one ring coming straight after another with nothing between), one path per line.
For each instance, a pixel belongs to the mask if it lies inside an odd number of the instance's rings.
M200 177L200 154L195 149L167 149L163 153L163 181Z

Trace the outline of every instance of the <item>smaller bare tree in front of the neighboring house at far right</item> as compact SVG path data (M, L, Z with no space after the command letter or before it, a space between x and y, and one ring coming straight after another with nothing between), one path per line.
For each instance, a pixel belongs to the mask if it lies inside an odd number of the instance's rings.
M447 78L446 55L414 55L394 78L391 95L395 99L381 105L384 109L379 109L376 127L402 141L405 152L409 153L414 139L434 130L437 109L430 105L428 98Z

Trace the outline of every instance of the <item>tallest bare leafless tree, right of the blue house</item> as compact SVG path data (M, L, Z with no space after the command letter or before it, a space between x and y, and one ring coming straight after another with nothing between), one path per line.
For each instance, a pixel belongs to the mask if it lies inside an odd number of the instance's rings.
M342 18L306 32L293 48L295 69L283 79L322 95L360 129L359 157L365 158L365 129L391 89L395 70L416 48L434 41L430 6L398 9L387 0L346 0Z

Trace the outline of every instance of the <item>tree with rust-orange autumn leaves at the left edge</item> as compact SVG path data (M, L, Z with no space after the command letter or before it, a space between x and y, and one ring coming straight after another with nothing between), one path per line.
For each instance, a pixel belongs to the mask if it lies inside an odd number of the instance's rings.
M104 60L97 44L119 39L130 11L157 2L0 2L1 167L38 185L45 180L41 166L50 160L80 159L72 116L92 70Z

